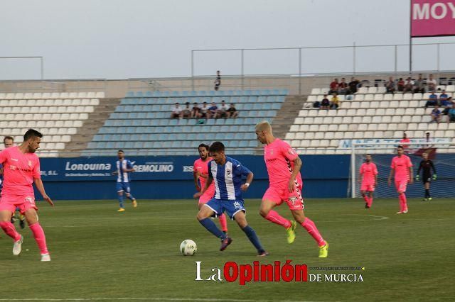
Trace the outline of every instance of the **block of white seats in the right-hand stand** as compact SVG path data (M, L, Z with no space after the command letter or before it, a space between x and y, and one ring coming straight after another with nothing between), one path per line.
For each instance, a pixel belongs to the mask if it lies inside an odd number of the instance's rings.
M449 96L454 85L438 86ZM344 95L338 109L311 108L321 101L328 88L314 88L286 135L292 147L310 148L306 154L348 154L350 149L340 146L341 140L370 138L402 138L405 131L410 138L424 138L432 131L434 138L454 138L455 123L429 123L432 108L424 108L429 93L385 94L385 87L360 87L352 99ZM438 93L439 97L439 93Z

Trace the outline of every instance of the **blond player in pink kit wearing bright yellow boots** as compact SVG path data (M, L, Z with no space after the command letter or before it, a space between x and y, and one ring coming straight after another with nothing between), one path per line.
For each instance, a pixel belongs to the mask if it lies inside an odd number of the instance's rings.
M264 160L269 174L269 189L262 197L259 213L265 219L282 225L287 230L287 241L295 240L296 222L287 220L273 210L283 202L287 203L294 219L316 240L319 245L319 257L328 255L328 242L323 240L318 228L312 220L305 217L304 198L301 196L303 181L301 180L301 160L287 142L274 138L272 126L263 121L256 125L256 136L264 147Z

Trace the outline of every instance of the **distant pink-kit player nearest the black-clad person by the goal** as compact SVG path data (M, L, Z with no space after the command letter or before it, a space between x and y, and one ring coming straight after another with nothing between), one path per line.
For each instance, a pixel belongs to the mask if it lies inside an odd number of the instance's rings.
M398 199L400 200L400 212L397 214L407 213L407 201L406 201L406 186L409 181L410 184L414 181L412 174L412 162L410 157L404 155L404 149L402 146L397 147L397 156L393 157L392 169L389 175L389 186L392 183L392 175L395 174L395 186L397 188Z

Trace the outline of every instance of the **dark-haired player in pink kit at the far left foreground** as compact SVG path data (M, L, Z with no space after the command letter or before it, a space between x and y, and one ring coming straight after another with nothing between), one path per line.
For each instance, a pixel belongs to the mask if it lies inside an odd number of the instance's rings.
M0 163L4 165L4 187L0 200L0 227L6 235L13 238L13 255L17 256L22 250L23 237L17 233L11 223L11 214L18 207L25 214L28 227L35 237L41 252L41 261L50 261L48 247L45 242L43 228L38 222L33 194L33 182L36 189L53 206L52 200L45 194L41 181L40 160L35 152L40 147L43 135L36 130L29 129L23 135L23 143L17 147L10 147L0 152Z

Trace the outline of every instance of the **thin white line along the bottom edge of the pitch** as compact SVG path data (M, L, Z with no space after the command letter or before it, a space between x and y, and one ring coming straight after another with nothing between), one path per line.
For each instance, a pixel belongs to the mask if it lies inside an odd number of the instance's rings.
M213 301L213 302L316 302L304 300L242 300L242 299L219 299L219 298L13 298L0 301Z

